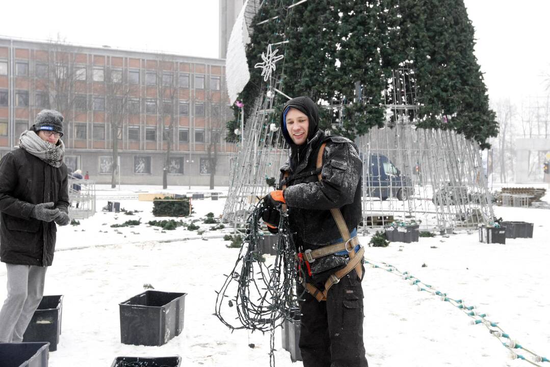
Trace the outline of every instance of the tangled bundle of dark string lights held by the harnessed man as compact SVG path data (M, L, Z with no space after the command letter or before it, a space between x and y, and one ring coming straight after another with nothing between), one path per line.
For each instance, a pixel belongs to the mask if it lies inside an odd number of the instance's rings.
M274 365L274 330L282 325L284 319L293 320L298 305L299 297L294 293L296 251L288 227L288 215L281 211L273 264L266 265L262 261L264 259L259 249L264 236L260 229L261 203L260 200L246 220L246 236L237 261L233 270L226 275L220 291L216 292L216 316L232 331L248 329L252 332L270 332L270 365ZM228 294L234 291L236 294L229 297ZM222 315L222 308L226 305L237 311L235 319L238 325L233 325L234 321L229 322Z

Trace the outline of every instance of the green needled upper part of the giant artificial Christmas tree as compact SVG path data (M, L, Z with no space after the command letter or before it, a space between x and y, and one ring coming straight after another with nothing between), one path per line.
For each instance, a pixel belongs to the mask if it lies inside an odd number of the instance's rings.
M411 70L421 128L454 129L481 147L498 133L474 56L474 28L463 0L266 1L256 15L247 50L251 79L241 92L245 116L265 91L261 54L279 45L278 87L337 108L321 109L320 127L355 138L386 118L384 91L395 70ZM274 18L274 19L273 19ZM272 19L262 22L263 20ZM274 46L275 47L275 46ZM286 98L277 95L274 105ZM248 107L248 108L247 108ZM338 119L338 120L337 120ZM229 124L230 132L235 128Z

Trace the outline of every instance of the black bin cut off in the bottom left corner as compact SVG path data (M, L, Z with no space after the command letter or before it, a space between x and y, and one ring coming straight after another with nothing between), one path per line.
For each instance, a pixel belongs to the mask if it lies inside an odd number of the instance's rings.
M50 343L0 343L2 367L48 367Z

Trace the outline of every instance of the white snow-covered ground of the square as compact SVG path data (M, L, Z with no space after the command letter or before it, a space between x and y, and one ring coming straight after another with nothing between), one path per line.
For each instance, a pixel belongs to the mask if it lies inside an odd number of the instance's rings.
M122 186L97 187L95 215L78 226L59 227L53 266L46 275L45 295L63 295L62 334L50 352L50 367L111 366L117 357L179 355L182 366L268 366L270 335L231 331L215 316L216 291L237 260L239 249L228 248L224 234L213 224L201 231L178 227L162 231L146 223L152 202L139 193L208 191L207 188ZM226 196L227 188L216 188ZM550 191L550 190L548 190ZM543 200L550 201L550 194ZM119 201L134 216L103 212L107 201ZM193 200L191 219L208 212L221 216L226 199ZM497 217L534 223L533 238L507 239L506 244L482 244L477 232L420 238L417 243L393 242L386 248L366 247L372 264L390 264L422 283L475 305L487 320L522 347L550 358L550 210L495 207ZM111 224L141 219L139 226L112 228ZM179 220L180 218L176 218ZM368 244L372 233L361 238ZM270 261L270 256L266 256ZM0 302L5 298L5 267L0 265ZM185 297L183 332L160 347L120 342L119 303L144 292L144 284L158 291L182 292ZM369 366L527 366L485 325L471 325L472 317L439 295L419 292L396 271L366 266L364 341ZM237 320L234 320L237 325ZM281 328L275 332L276 366L300 366L282 348ZM251 347L253 344L253 347ZM514 349L522 355L521 349ZM1 361L0 361L1 362ZM1 364L1 363L0 363ZM550 363L540 362L539 365Z

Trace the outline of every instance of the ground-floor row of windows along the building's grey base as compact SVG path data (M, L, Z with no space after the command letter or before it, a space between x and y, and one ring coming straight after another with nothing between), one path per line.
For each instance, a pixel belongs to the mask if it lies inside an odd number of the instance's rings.
M70 172L75 171L77 167L80 167L80 156L68 155L64 157L65 165L67 165ZM134 156L134 174L151 174L151 156L139 155ZM199 158L199 174L210 174L210 160L206 157ZM170 174L185 174L184 167L194 165L195 161L190 158L184 157L171 157L168 163L168 173ZM86 167L81 168L86 171ZM112 174L113 172L113 157L112 156L99 156L98 157L98 170L99 174Z

